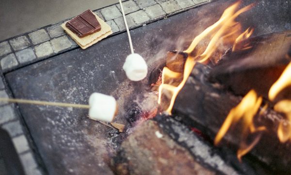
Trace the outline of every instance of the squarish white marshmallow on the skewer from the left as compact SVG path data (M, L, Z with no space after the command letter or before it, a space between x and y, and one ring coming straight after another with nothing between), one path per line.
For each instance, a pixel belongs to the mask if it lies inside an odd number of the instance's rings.
M112 96L95 92L89 98L89 106L89 118L104 122L113 121L117 109Z

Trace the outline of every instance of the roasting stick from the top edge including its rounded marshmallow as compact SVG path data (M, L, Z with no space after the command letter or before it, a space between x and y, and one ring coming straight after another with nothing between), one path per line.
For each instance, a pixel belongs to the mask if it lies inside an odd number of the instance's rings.
M146 78L147 74L147 65L145 59L137 53L134 53L133 51L133 46L132 46L132 41L131 41L131 36L129 33L129 26L125 17L124 9L122 6L121 0L119 0L122 16L124 19L126 31L129 37L129 47L131 54L129 54L125 60L125 63L123 65L123 70L126 73L126 76L129 78L131 81L140 81L144 78Z

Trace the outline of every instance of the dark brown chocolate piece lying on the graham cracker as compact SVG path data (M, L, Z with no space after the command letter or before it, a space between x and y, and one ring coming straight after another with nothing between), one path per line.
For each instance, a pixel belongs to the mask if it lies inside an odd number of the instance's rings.
M69 20L65 26L80 38L101 30L101 25L91 10Z

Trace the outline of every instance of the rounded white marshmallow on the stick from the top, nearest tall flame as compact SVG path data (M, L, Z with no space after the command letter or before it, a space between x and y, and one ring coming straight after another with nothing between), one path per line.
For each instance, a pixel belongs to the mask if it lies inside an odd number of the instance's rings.
M140 81L146 78L147 74L147 65L144 58L137 54L130 54L123 65L123 70L126 73L126 76L131 81Z

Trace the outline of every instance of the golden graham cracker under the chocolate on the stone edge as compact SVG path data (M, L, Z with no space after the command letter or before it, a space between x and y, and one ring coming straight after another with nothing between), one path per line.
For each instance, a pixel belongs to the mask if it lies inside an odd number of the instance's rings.
M68 35L70 35L82 49L86 49L86 48L92 46L93 44L97 43L101 39L104 39L107 36L113 34L113 32L111 30L111 27L106 22L104 22L97 15L95 15L95 17L97 18L99 24L101 25L101 30L96 32L96 33L94 33L94 34L91 34L91 35L88 35L88 36L85 36L85 37L82 37L82 38L80 38L79 36L74 34L72 31L70 31L70 29L68 29L65 26L66 22L64 24L62 24L61 26L65 30L65 32Z

